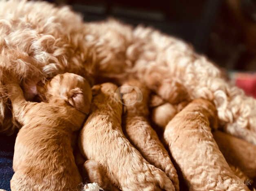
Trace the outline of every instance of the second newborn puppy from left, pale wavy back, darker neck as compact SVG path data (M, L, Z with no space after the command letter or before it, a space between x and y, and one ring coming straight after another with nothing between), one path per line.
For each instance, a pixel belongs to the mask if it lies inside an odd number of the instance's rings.
M106 176L122 191L173 191L166 174L150 165L124 136L122 104L114 96L116 89L111 83L93 87L92 113L79 136L82 154L101 164Z

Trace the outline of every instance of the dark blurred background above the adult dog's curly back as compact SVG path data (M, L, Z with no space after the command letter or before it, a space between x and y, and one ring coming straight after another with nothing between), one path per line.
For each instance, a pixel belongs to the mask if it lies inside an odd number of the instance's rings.
M52 0L85 21L115 17L191 43L228 70L256 71L256 0Z

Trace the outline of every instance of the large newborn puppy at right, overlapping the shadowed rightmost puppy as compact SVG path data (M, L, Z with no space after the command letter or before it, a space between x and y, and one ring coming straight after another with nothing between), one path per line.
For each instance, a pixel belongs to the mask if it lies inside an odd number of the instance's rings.
M215 107L199 99L178 113L164 132L164 140L190 190L249 191L218 149L210 124L217 125Z

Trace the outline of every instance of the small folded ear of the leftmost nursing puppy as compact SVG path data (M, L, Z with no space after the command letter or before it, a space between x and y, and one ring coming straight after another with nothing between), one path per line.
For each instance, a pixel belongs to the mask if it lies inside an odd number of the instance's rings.
M80 88L68 92L68 103L82 113L88 114L90 111L90 100Z

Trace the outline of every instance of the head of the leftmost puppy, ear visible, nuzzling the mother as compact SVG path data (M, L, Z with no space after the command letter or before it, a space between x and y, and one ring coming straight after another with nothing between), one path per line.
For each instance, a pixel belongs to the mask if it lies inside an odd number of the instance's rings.
M38 84L37 89L42 101L64 100L75 109L89 113L92 92L88 81L82 76L58 74L45 85Z

